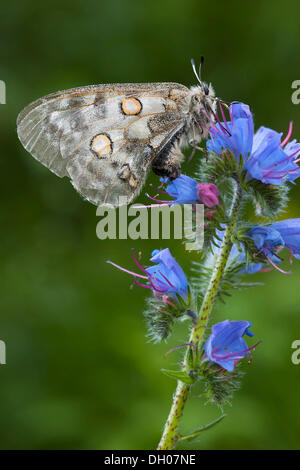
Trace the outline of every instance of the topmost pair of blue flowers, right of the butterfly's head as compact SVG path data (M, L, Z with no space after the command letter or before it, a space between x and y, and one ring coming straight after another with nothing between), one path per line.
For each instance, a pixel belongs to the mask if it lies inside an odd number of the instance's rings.
M222 107L220 105L222 110ZM228 149L237 162L242 156L243 169L249 178L266 184L282 184L294 181L300 176L298 156L300 143L288 142L292 134L292 123L286 138L281 141L282 133L267 127L260 127L254 134L253 117L248 105L232 103L229 108L230 121L215 124L210 130L207 149L222 154ZM224 113L222 113L224 115ZM224 132L224 127L229 132Z

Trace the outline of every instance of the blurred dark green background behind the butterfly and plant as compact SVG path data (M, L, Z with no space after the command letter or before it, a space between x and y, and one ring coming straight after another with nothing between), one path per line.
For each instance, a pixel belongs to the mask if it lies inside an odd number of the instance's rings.
M154 248L166 246L186 270L192 258L174 241L98 240L96 208L18 142L18 112L42 95L79 85L191 85L190 58L204 54L204 78L218 96L249 103L256 126L286 132L293 120L300 140L300 105L291 102L291 83L300 79L299 17L297 0L12 0L2 6L2 449L155 448L175 386L160 368L171 368L181 352L163 354L186 341L187 325L168 344L147 343L148 294L129 290L131 279L105 260L132 267L131 247L146 262ZM299 185L287 217L300 216ZM299 449L300 365L291 362L291 344L300 339L299 273L298 261L291 276L256 275L265 287L218 305L216 321L252 320L263 343L227 418L190 448ZM203 406L199 392L186 407L183 431L219 415Z

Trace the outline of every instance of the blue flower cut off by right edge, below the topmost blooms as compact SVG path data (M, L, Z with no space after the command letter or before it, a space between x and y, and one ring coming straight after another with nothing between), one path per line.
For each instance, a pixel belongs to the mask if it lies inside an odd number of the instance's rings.
M300 259L300 219L286 219L267 226L254 226L247 235L254 241L259 252L264 254L270 263L279 271L277 264L281 258L279 249L287 248L292 258Z

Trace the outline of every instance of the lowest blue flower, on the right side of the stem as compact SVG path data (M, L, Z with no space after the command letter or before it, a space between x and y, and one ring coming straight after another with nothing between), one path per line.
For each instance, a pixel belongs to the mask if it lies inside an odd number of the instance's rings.
M215 362L232 372L238 361L247 357L261 342L248 348L243 336L254 336L249 329L251 325L248 321L229 320L213 325L211 335L204 346L204 360Z

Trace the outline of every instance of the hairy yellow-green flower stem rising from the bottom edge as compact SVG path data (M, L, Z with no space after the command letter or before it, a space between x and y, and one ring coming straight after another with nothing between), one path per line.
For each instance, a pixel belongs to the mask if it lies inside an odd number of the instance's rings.
M213 272L201 305L200 312L198 314L197 320L193 324L191 331L189 343L194 345L199 351L201 340L205 331L205 328L208 323L210 313L213 309L216 295L219 289L220 281L222 279L226 263L232 248L232 235L236 227L238 220L238 211L241 200L241 188L239 184L235 182L235 189L232 198L231 208L229 212L229 221L226 225L225 234L223 242L219 251L218 258L216 259ZM190 346L185 354L184 361L182 364L182 369L185 371L190 370L190 352L192 346ZM174 449L179 435L178 435L178 425L180 419L183 415L183 409L185 402L188 398L188 393L191 388L190 384L186 384L178 380L176 392L173 397L172 406L170 413L167 419L167 422L164 427L164 431L161 437L161 440L158 444L159 450L168 450Z

